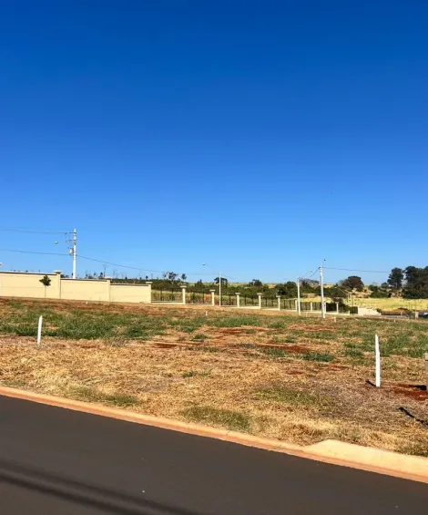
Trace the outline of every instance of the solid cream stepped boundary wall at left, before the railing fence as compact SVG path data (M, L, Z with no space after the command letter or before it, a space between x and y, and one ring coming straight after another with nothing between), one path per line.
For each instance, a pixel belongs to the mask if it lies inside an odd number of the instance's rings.
M51 283L40 283L45 275ZM0 297L150 303L151 284L111 284L109 279L62 279L58 273L0 272Z

